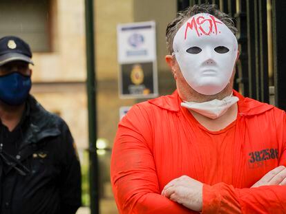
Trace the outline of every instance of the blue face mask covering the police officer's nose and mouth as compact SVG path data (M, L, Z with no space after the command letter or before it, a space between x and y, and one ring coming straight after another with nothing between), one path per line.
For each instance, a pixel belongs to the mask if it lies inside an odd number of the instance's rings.
M8 105L21 105L26 101L31 86L30 76L18 72L0 76L0 100Z

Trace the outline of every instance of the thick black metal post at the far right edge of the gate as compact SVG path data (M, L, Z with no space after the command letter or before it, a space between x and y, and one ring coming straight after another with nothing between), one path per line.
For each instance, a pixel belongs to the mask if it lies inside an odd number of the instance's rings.
M286 110L286 1L272 0L275 105Z

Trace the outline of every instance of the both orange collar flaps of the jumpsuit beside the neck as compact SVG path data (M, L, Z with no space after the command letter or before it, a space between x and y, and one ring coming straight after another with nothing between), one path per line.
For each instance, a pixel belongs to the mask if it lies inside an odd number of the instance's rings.
M251 98L245 98L236 92L236 90L233 90L233 96L237 96L239 98L238 113L240 115L254 116L274 108L273 105L260 103L259 101ZM160 96L159 98L148 100L148 102L162 109L178 112L180 111L180 103L182 103L182 100L178 94L178 91L175 90L175 92L173 92L171 95Z

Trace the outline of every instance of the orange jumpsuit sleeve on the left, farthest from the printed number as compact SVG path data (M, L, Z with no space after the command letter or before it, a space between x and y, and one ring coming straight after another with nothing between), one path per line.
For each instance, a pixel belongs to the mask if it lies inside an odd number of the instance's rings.
M150 118L135 106L119 124L111 156L111 183L120 213L195 213L163 197L151 152ZM167 167L167 166L166 166Z

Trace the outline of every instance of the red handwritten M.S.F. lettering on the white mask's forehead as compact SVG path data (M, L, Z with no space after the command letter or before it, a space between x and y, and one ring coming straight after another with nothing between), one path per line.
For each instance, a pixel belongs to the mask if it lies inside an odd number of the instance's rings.
M222 24L220 21L216 21L215 17L209 15L210 19L206 19L205 17L193 17L190 22L187 23L186 30L184 31L184 39L187 39L188 30L196 30L198 36L206 35L210 36L212 34L218 34L218 25ZM205 22L208 22L209 31L204 30L206 28ZM202 25L204 24L204 28ZM220 32L219 32L220 33Z

